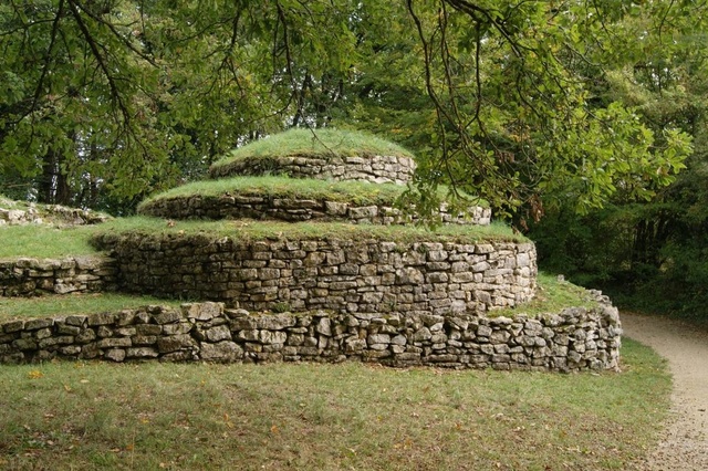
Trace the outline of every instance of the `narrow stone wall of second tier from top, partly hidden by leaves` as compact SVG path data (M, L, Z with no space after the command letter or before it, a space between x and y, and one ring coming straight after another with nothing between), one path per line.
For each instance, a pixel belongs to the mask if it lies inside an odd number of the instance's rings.
M346 220L355 223L403 224L415 219L400 214L400 210L378 206L355 206L346 202L269 198L260 196L201 196L163 198L149 201L138 213L170 219L280 219L291 222L309 220ZM475 207L462 217L452 217L440 211L445 223L487 226L491 221L491 209Z

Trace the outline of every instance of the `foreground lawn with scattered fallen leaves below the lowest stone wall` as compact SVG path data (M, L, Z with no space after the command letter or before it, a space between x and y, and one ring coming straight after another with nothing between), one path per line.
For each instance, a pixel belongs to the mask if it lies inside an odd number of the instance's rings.
M670 379L341 365L0 367L0 469L601 470L654 443Z

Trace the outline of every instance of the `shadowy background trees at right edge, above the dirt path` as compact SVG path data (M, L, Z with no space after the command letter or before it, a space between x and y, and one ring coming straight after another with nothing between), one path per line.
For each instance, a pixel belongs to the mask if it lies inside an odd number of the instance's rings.
M583 218L559 198L530 237L546 270L603 287L631 307L705 321L708 63L700 44L706 24L704 15L696 15L701 7L684 7L671 12L664 6L668 17L659 23L647 15L623 21L628 31L654 28L662 34L623 44L618 53L632 62L621 66L618 57L594 93L601 102L631 105L655 136L668 126L690 135L694 154L685 161L687 170L648 200L635 200L623 188L604 209ZM663 43L662 35L673 38L671 43Z

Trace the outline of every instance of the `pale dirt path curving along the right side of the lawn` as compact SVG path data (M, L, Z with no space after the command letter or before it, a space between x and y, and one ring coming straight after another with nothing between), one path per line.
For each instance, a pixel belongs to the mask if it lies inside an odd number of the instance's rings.
M708 470L708 334L685 324L621 313L624 335L668 359L671 418L644 470Z

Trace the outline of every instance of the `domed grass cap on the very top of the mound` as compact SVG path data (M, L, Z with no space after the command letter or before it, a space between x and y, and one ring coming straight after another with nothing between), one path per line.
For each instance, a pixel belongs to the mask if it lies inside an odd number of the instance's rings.
M239 147L216 161L212 167L240 159L291 156L330 159L362 155L413 157L403 147L369 134L335 129L290 129Z

